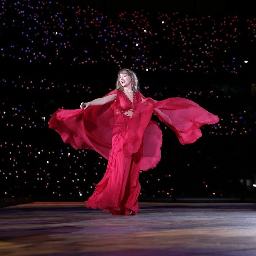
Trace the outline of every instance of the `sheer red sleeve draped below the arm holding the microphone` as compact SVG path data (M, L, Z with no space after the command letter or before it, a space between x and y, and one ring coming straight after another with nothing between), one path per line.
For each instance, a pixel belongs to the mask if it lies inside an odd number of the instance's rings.
M107 95L116 92L113 90ZM58 109L49 120L49 128L58 132L63 142L73 148L92 149L108 159L112 146L115 108L115 101L112 101L102 106L90 106L86 110Z

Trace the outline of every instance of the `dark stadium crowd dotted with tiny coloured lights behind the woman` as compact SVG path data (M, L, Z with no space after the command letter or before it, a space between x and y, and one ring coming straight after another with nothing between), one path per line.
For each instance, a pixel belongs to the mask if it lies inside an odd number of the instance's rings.
M184 146L160 123L162 158L141 172L141 200L255 197L255 46L256 15L0 0L0 198L92 194L107 160L63 144L48 122L115 89L121 68L145 96L188 98L220 117Z

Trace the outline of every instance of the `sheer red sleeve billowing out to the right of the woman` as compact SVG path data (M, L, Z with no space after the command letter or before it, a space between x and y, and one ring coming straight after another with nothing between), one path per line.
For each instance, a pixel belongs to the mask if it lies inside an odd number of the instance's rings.
M159 111L155 111L155 109ZM126 139L130 152L137 152L143 141L152 113L172 129L181 144L189 144L202 136L200 127L218 123L219 117L192 100L185 98L168 98L162 101L145 98L137 106L128 123ZM136 133L132 133L136 127Z

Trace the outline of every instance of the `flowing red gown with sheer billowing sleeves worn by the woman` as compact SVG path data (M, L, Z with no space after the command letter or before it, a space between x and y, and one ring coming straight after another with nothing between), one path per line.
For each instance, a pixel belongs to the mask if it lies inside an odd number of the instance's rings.
M140 170L154 168L161 158L162 132L150 120L152 114L176 133L181 144L199 139L199 128L215 124L219 118L185 98L157 101L133 92L131 102L120 90L110 94L116 94L116 100L102 106L58 109L49 127L75 149L93 149L108 159L104 177L85 201L87 208L113 215L137 214Z

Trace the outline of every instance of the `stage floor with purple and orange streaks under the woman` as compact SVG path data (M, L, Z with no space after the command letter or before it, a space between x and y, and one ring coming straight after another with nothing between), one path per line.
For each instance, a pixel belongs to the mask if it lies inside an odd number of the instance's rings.
M139 205L130 216L87 209L83 202L0 208L0 255L256 255L255 203Z

